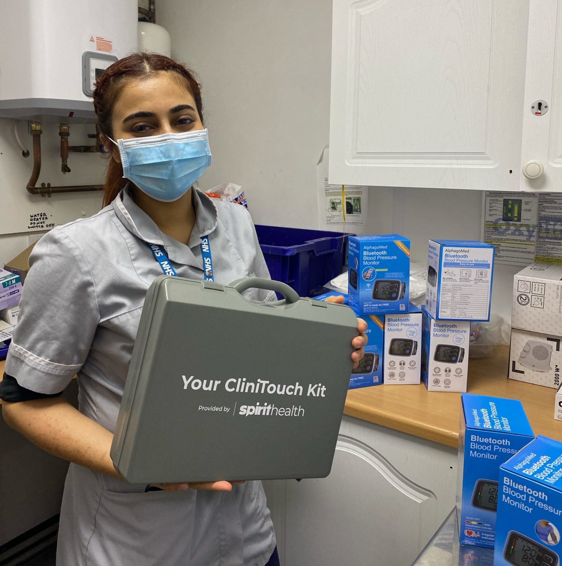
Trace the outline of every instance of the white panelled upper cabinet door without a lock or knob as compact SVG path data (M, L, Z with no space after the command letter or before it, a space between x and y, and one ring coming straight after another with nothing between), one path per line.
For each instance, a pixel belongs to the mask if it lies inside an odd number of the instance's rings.
M518 190L529 0L334 0L331 183Z

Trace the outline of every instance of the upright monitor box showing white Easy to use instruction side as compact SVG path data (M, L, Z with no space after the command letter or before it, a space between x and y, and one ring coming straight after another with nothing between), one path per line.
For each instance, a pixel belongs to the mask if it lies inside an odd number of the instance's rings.
M427 311L440 320L490 320L494 246L463 240L430 240Z

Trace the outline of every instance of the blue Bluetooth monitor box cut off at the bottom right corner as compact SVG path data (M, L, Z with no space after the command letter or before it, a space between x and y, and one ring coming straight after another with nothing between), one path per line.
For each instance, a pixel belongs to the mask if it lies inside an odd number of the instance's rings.
M494 566L559 566L562 443L537 436L500 466Z

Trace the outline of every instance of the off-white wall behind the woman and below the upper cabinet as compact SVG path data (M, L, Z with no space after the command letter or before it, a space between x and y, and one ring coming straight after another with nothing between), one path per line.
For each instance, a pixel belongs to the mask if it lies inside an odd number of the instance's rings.
M315 164L329 140L331 0L161 0L172 56L203 85L213 166L242 185L256 223L318 226ZM480 238L479 191L371 187L369 230L412 239ZM518 268L496 267L492 310L509 319Z

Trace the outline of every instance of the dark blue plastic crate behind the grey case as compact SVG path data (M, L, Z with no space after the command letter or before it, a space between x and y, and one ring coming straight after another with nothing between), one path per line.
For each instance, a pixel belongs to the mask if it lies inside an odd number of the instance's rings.
M312 297L345 265L349 236L343 232L256 225L271 278Z

